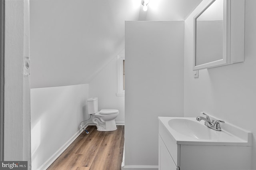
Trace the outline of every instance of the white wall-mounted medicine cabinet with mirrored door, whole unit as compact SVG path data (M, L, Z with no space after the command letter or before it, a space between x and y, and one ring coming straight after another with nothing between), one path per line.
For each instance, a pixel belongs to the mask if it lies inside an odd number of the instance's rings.
M210 0L194 17L193 70L242 61L244 0Z

